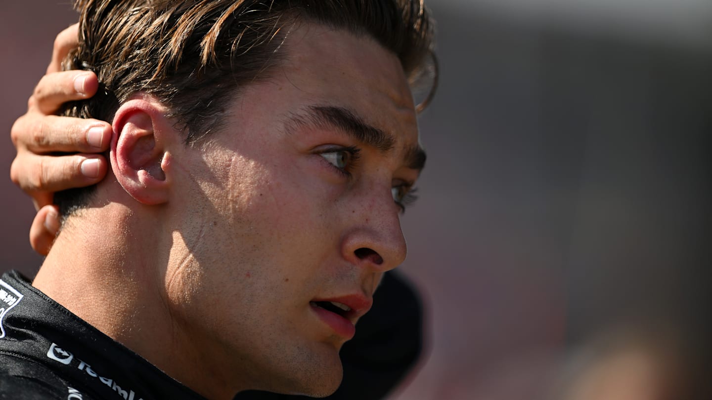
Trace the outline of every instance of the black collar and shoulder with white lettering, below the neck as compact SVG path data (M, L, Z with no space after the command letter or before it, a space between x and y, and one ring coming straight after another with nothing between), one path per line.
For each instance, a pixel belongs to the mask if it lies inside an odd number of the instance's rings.
M0 279L0 399L203 399L48 298Z

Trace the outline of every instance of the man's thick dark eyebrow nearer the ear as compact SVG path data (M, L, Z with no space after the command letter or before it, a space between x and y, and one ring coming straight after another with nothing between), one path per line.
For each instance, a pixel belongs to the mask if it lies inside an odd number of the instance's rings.
M393 149L394 139L377 127L368 125L354 112L342 107L328 105L310 105L304 112L290 115L285 124L287 133L295 132L296 128L313 126L318 128L337 128L355 140L388 152Z

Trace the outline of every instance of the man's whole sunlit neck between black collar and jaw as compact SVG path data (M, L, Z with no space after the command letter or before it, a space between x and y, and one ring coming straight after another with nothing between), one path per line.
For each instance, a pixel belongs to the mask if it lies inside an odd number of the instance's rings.
M189 250L166 224L116 203L79 211L66 221L33 286L203 396L231 399L236 382L208 368L167 295Z

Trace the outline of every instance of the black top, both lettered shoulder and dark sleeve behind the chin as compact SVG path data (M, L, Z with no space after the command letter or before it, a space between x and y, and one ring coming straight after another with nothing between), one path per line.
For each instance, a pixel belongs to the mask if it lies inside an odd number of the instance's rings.
M374 307L342 348L344 381L328 399L380 399L417 359L414 292L384 277ZM375 312L376 311L376 312ZM248 391L236 399L296 399ZM0 279L0 399L203 399L48 298L17 271Z

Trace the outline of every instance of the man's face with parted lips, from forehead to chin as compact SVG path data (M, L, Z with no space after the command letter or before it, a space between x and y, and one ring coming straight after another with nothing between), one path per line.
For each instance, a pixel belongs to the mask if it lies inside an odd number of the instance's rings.
M424 153L393 53L312 23L282 51L289 68L172 154L167 299L204 343L197 357L223 366L204 374L325 395L382 273L406 257L399 215Z

